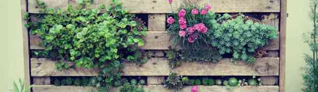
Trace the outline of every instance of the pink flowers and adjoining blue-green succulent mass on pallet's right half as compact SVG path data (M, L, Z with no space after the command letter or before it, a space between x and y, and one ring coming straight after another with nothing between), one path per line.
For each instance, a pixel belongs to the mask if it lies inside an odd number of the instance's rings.
M211 8L210 5L201 8L185 1L177 13L168 15L167 31L173 47L180 45L182 49L181 54L175 54L180 57L177 60L216 62L222 58L221 55L231 53L235 61L253 63L255 50L277 38L274 27L260 24L242 14L215 14L209 11ZM195 54L204 51L214 53ZM193 55L200 58L193 59Z

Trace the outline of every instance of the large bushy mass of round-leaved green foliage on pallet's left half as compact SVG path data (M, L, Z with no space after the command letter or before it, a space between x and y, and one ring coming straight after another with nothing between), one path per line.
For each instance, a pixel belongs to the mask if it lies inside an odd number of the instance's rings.
M91 81L100 90L106 90L120 81L122 61L143 64L148 60L138 49L144 45L142 37L146 36L147 28L144 22L123 10L119 1L113 0L99 9L90 9L90 3L82 0L79 1L82 8L68 6L66 10L55 10L37 1L39 12L45 15L38 15L40 21L26 26L41 37L40 44L45 48L41 54L60 60L56 62L58 70L69 68L68 61L77 67L100 68L100 77Z

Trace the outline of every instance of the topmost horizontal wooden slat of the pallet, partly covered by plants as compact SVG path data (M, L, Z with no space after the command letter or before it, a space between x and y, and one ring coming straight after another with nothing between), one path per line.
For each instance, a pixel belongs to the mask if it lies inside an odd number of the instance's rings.
M36 0L28 1L28 12L38 13ZM68 4L76 3L76 0L68 3L68 0L41 0L49 8L66 9ZM173 10L180 7L182 0L174 0ZM210 4L211 11L216 13L228 12L280 12L280 0L193 0L199 5ZM165 0L122 0L123 8L129 13L171 13L170 5ZM98 7L100 4L110 4L110 0L95 0L91 7Z

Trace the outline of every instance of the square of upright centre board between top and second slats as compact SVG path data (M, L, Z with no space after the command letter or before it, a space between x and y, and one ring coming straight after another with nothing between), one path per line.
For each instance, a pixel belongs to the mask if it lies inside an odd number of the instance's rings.
M166 14L149 14L148 30L166 31Z

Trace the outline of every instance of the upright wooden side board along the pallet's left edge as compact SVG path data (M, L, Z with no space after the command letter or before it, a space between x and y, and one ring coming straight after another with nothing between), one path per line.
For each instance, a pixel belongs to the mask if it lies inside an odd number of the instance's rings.
M22 21L22 38L23 38L23 63L24 63L24 84L28 88L31 84L30 79L30 57L29 57L29 36L28 29L24 26L27 20L24 19L24 14L27 13L27 0L21 0L21 21ZM30 90L26 90L29 92Z

